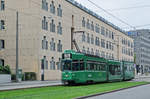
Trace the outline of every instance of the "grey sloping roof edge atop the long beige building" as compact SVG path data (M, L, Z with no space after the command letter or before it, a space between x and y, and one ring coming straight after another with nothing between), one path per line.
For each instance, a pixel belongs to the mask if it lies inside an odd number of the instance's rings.
M86 13L96 17L97 19L99 19L100 21L106 23L107 25L113 27L114 29L124 33L125 35L127 35L127 32L125 30L122 30L120 27L114 25L113 23L107 21L106 19L104 19L103 17L101 17L100 15L98 15L97 13L89 10L88 8L86 8L85 6L83 6L82 4L76 2L75 0L66 0L67 2L71 3L72 5L80 8L81 10L85 11ZM128 35L127 35L128 36Z

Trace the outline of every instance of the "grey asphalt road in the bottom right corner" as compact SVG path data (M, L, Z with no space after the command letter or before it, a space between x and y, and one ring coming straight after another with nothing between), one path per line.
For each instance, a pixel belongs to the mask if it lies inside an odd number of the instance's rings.
M150 99L150 85L143 85L87 99Z

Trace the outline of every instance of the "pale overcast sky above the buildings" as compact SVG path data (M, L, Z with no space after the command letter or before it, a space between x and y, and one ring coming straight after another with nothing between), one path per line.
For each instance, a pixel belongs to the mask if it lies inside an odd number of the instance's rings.
M104 11L91 4L88 0L76 0L76 1L83 4L87 8L91 9L92 11L97 12L100 16L104 17L113 24L121 27L122 29L124 30L132 29L128 25L125 25L120 21L114 19L112 16L106 14ZM91 0L91 1L132 26L141 26L145 24L150 24L150 0ZM130 9L113 10L118 8L119 9L130 8ZM138 27L138 29L143 28L150 29L150 25Z

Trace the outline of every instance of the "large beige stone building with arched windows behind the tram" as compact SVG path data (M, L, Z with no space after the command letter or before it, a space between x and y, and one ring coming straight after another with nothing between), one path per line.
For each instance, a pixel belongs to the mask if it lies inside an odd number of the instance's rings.
M81 51L133 61L133 39L73 0L0 0L0 64L16 69L16 12L19 13L19 68L41 80L61 78L60 59L71 49L71 27ZM43 72L43 65L44 72Z

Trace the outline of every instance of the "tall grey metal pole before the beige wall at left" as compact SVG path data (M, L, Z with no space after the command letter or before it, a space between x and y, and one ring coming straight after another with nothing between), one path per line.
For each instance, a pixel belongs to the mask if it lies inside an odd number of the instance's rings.
M16 12L16 82L18 82L18 11Z

